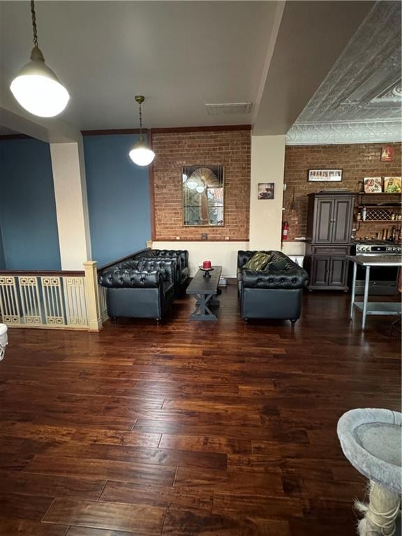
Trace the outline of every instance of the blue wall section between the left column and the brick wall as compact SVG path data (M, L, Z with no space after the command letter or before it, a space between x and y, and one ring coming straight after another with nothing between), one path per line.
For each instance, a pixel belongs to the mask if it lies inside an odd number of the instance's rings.
M98 265L151 239L148 168L128 157L136 135L84 136L92 258Z

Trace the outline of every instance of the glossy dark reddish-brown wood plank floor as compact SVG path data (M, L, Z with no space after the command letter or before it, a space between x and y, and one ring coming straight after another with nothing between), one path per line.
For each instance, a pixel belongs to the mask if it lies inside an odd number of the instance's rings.
M400 408L392 319L348 322L346 295L306 294L288 322L10 330L0 364L4 536L348 536L364 479L336 422Z

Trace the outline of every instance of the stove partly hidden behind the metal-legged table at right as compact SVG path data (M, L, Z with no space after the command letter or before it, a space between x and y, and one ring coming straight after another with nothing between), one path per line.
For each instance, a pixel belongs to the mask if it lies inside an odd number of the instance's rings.
M352 246L352 255L389 255L396 256L402 254L401 244L389 242L387 240L356 240ZM364 294L365 269L357 267L356 294ZM370 295L395 295L397 292L396 280L398 278L398 268L394 267L371 267L371 278L368 287Z

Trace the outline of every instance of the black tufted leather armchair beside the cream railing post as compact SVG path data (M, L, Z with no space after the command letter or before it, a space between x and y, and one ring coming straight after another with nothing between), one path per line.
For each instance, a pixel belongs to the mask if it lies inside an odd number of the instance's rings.
M98 276L107 288L107 314L111 318L161 320L174 300L177 261L124 260L105 268Z

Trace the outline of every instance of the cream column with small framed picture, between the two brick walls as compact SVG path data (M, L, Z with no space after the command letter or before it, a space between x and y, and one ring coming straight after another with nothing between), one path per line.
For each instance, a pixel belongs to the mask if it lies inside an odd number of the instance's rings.
M251 250L281 251L285 140L285 135L251 137ZM265 182L274 182L274 199L258 199L258 184Z

